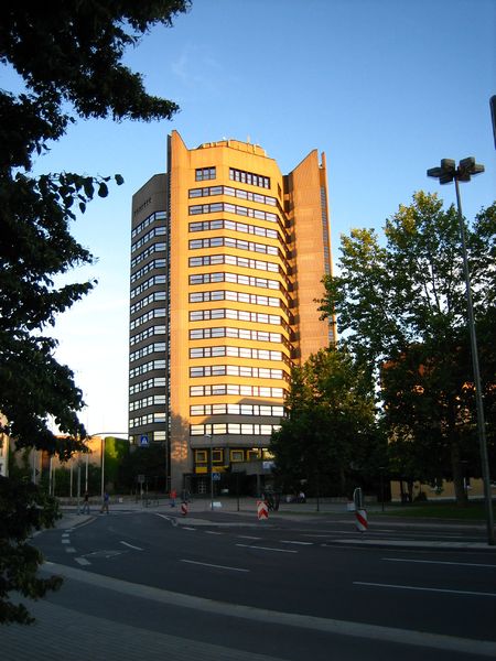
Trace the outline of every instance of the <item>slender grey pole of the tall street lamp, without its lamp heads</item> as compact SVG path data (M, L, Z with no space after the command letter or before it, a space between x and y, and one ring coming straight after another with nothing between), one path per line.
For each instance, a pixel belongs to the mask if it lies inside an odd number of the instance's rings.
M462 252L463 252L463 268L465 271L465 286L466 286L466 308L468 316L468 329L471 334L471 348L472 348L472 366L474 370L474 388L475 388L475 402L477 408L477 431L478 431L478 444L481 452L481 468L484 483L484 500L486 506L486 524L487 524L487 543L492 546L495 544L494 539L494 517L493 517L493 499L490 495L490 478L489 478L489 460L487 456L487 442L486 442L486 426L484 421L484 404L482 399L482 387L481 387L481 372L478 369L478 353L477 353L477 337L475 334L475 319L474 308L472 305L472 288L471 288L471 274L468 270L468 260L466 257L466 243L465 243L465 227L463 225L462 215L462 201L460 197L459 177L455 175L455 189L456 189L456 205L459 209L459 223L460 223L460 236L462 239Z

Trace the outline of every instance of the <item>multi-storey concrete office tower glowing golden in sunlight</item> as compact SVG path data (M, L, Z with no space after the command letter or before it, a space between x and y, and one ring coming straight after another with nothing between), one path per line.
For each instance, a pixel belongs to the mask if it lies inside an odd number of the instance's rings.
M263 149L190 150L132 198L129 433L162 443L172 487L267 457L291 366L333 340L325 156L281 174Z

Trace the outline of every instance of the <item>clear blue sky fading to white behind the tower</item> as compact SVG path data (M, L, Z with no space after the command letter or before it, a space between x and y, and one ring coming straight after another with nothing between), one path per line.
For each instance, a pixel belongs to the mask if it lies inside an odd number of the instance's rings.
M468 219L496 197L494 0L193 0L126 63L181 106L173 121L79 121L36 164L126 181L74 225L98 262L73 277L99 285L55 330L89 433L127 430L131 196L165 170L172 129L191 149L249 139L283 173L325 152L334 262L342 234L380 230L414 191L454 202L452 185L425 176L442 158L474 155L486 167L463 185ZM0 85L9 83L0 69Z

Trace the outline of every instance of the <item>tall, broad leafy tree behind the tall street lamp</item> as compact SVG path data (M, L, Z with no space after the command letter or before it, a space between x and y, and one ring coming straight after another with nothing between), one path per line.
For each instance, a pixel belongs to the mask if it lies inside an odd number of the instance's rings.
M492 205L466 227L474 313L493 367L486 394L495 373L495 213ZM462 503L462 463L476 433L457 213L419 192L387 220L385 236L384 247L373 230L342 239L341 274L325 279L321 311L337 313L347 345L379 379L391 440L423 447L412 453L418 477L449 475Z

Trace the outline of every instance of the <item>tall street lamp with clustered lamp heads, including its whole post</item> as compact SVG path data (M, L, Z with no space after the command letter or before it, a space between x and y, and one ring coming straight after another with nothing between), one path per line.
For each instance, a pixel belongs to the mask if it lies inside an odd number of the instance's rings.
M465 272L465 288L466 288L466 308L467 308L467 324L471 335L471 349L472 349L472 366L474 370L474 387L475 387L475 402L477 408L477 432L478 432L478 444L481 453L481 467L484 483L484 500L486 506L486 524L487 524L487 543L489 545L495 544L494 539L494 518L493 518L493 501L490 495L490 477L489 477L489 462L487 456L487 442L486 442L486 426L484 422L484 404L482 399L481 388L481 372L478 369L478 351L477 351L477 336L475 333L475 319L474 308L472 304L472 288L471 288L471 274L468 269L468 260L466 256L466 242L465 242L465 227L463 224L462 215L462 202L460 197L460 185L459 182L470 182L471 177L475 174L484 172L484 165L479 165L475 162L474 158L463 159L460 161L456 167L455 161L452 159L442 159L441 167L431 167L427 171L428 176L438 178L440 184L449 184L454 181L456 191L456 206L459 212L460 223L460 237L462 241L462 253L463 253L463 268Z

